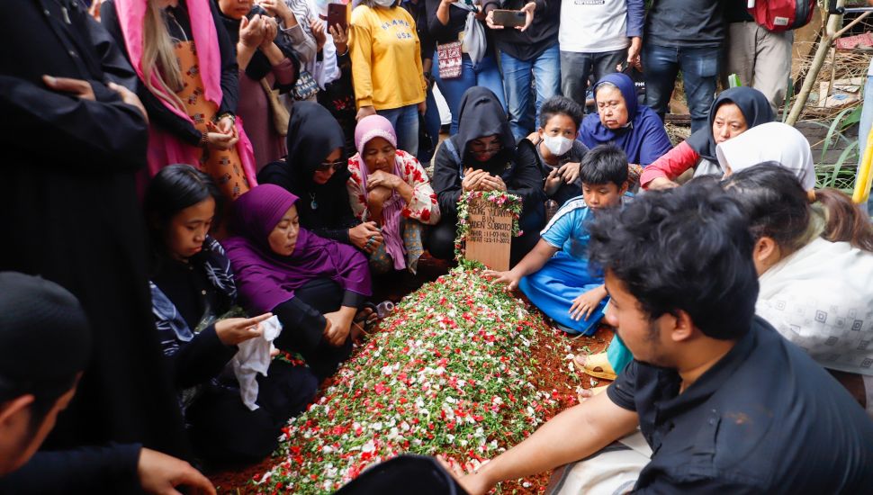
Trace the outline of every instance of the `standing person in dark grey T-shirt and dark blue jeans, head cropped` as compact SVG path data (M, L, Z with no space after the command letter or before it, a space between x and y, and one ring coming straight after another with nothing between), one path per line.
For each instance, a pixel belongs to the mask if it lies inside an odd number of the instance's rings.
M643 37L646 104L663 119L681 70L691 131L706 127L724 42L723 0L654 0Z

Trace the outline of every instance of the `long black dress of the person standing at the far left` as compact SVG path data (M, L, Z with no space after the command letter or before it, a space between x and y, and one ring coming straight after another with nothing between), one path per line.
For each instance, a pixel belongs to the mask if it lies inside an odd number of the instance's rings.
M101 51L94 49L100 29L76 0L4 3L0 270L61 284L91 321L91 363L50 446L142 442L186 457L150 314L134 186L146 163L147 125L103 84L101 59L117 62L120 52L105 33ZM121 70L112 67L114 76ZM91 81L96 101L50 91L44 74Z

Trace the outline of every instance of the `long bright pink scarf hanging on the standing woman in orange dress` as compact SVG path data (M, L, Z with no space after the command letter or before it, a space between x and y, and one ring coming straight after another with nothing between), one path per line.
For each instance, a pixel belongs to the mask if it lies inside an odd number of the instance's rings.
M121 24L121 34L124 36L124 44L127 46L130 64L137 72L140 80L145 80L142 70L143 54L143 30L146 19L148 2L153 0L115 0L115 10ZM210 0L186 0L188 16L191 23L191 33L194 46L197 49L197 59L200 62L200 72L203 81L204 97L215 103L221 104L221 53L218 44L218 32L215 31L215 21L212 18ZM157 76L152 74L152 83L157 85ZM180 118L193 124L191 117L184 112L179 112L173 105L164 103L166 108ZM251 187L257 185L255 180L255 153L251 141L248 140L243 130L242 120L237 119L239 140L237 152L242 162L243 171L246 174ZM156 126L149 126L148 135L148 172L155 175L164 166L174 163L186 163L195 166L196 154L192 147L175 139L172 135Z

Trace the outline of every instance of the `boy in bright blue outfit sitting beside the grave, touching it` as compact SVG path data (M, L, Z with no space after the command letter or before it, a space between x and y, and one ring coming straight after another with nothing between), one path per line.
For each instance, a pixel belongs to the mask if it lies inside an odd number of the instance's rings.
M603 276L588 268L586 221L632 197L625 152L609 145L591 149L582 159L579 178L582 195L554 214L536 247L508 272L488 270L485 276L510 290L518 287L564 331L590 335L603 318L607 292Z

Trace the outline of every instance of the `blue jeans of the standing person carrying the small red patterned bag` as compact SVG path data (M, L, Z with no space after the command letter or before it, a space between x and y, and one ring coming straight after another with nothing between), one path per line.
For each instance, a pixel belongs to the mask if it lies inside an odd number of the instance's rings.
M461 110L461 96L464 92L474 85L487 87L497 94L497 99L500 104L506 109L506 98L503 95L503 81L500 79L500 69L497 67L497 62L491 54L473 65L473 60L470 56L464 53L462 58L464 64L461 69L461 76L453 79L440 79L439 67L437 64L437 53L434 53L434 69L433 74L437 79L439 92L446 98L448 108L452 112L452 127L449 133L454 136L458 131L458 112Z

